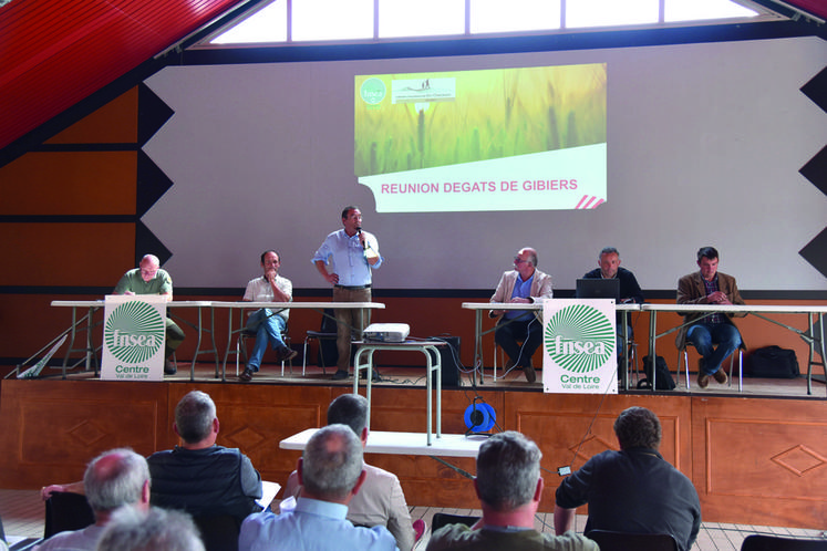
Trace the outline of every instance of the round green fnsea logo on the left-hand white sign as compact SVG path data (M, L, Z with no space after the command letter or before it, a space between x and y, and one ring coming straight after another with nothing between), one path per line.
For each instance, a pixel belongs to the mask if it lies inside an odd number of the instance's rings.
M124 302L106 320L103 341L121 362L146 362L164 342L164 319L142 301Z

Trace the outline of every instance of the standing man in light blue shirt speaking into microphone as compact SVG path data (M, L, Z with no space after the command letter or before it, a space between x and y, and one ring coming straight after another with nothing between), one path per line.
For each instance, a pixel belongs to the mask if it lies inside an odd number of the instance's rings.
M324 280L333 285L333 302L370 302L371 270L382 266L379 241L373 233L362 231L362 211L348 206L342 210L344 228L330 233L312 262ZM328 269L330 267L330 269ZM334 381L348 378L350 364L350 342L353 335L362 337L362 331L370 323L370 311L361 309L337 309L337 372ZM376 380L378 374L371 376Z

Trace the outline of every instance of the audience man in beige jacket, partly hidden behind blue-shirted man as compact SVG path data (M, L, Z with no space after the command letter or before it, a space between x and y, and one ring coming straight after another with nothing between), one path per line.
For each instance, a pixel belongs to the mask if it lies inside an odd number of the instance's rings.
M328 425L348 425L362 440L362 449L368 444L368 399L359 394L342 394L328 406ZM402 551L411 551L414 545L414 529L407 510L405 495L399 478L379 467L364 464L366 476L350 503L348 520L355 526L384 526L396 538ZM293 471L287 480L285 496L298 496L299 475ZM424 531L424 526L421 529Z

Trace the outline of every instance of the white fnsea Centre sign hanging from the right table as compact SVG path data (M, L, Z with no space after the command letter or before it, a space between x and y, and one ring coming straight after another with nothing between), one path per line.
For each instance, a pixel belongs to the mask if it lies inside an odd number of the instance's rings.
M613 299L550 299L542 320L545 392L618 393Z

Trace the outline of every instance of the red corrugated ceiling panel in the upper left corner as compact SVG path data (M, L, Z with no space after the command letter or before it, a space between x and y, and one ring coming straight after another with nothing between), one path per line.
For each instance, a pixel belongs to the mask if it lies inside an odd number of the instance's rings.
M0 8L0 148L241 0L12 0Z

